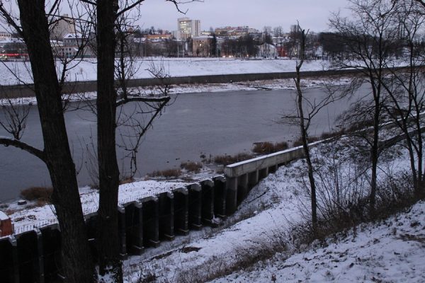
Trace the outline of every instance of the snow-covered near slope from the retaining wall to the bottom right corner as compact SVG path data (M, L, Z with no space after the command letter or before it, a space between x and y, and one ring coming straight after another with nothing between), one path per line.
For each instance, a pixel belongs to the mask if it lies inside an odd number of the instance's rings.
M340 167L340 182L347 183L353 173L348 158L353 151L346 144L331 143L313 152L314 158L329 154L336 161L331 166ZM362 156L356 158L363 166ZM382 159L381 182L385 175L396 175L409 166L406 152L398 146ZM327 166L319 171L331 175ZM125 262L128 282L137 282L140 272L154 275L156 282L205 282L234 268L238 271L215 282L424 282L425 264L420 260L425 256L424 202L407 214L361 225L336 241L329 238L327 247L312 246L302 252L291 247L290 228L305 219L309 206L305 172L305 162L299 160L268 175L225 221L225 229L204 229L130 258ZM242 270L244 262L265 250L285 253Z

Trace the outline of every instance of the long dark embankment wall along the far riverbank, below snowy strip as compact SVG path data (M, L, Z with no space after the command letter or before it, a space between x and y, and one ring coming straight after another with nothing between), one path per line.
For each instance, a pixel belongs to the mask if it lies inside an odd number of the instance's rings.
M320 77L335 75L359 74L358 70L343 71L304 71L304 77ZM261 81L271 79L291 79L295 72L259 73L259 74L223 74L208 76L176 76L166 79L132 79L128 86L161 86L164 84L179 85L191 83L232 83L237 81ZM0 98L20 98L35 96L33 85L0 86ZM97 81L75 81L64 84L64 93L86 93L97 90Z

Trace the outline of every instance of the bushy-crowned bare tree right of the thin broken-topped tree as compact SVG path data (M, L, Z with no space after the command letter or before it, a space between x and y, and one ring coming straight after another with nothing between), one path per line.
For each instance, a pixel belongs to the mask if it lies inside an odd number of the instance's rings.
M392 13L395 2L390 0L350 0L351 18L335 14L330 19L330 27L336 31L339 41L344 42L344 53L334 60L335 69L357 69L363 74L356 77L358 85L367 82L371 95L356 103L355 108L346 115L346 122L370 121L372 135L365 135L370 145L370 214L375 212L378 158L380 156L379 134L385 90L386 58L390 56L396 34ZM360 120L360 121L359 121Z

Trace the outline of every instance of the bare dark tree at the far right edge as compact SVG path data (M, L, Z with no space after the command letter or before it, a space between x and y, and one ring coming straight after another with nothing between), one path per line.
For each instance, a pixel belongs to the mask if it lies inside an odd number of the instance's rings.
M399 1L393 14L398 23L398 36L402 59L407 62L404 69L394 69L394 63L387 59L389 74L382 83L388 93L389 103L384 104L387 115L401 129L409 151L410 167L416 196L421 195L423 181L423 127L421 112L424 111L425 85L422 66L423 51L419 33L425 22L423 7L416 1Z

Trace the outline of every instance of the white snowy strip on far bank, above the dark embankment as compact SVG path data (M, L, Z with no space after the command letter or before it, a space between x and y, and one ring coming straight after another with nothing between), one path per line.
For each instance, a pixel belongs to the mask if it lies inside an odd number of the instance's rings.
M135 62L132 79L152 78L149 69L162 69L169 76L203 76L219 74L254 74L295 71L295 59L234 59L234 58L145 58ZM96 81L96 59L72 62L67 81ZM303 71L322 71L328 62L305 62ZM62 65L57 61L57 74ZM18 78L17 78L17 76ZM31 83L29 62L0 62L0 85Z

